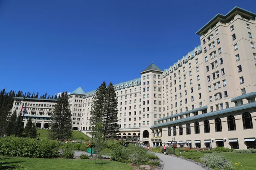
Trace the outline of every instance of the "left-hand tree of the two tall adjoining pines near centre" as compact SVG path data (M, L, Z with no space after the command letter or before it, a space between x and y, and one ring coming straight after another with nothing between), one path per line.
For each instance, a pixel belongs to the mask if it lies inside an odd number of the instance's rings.
M105 96L107 94L107 85L105 82L99 86L93 96L92 109L90 111L90 125L94 126L98 123L102 123L103 116L105 115Z

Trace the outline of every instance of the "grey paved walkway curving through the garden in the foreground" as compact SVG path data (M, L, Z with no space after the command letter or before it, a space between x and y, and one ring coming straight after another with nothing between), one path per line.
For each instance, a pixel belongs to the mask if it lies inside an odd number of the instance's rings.
M155 153L163 162L163 170L204 170L201 166L184 159L175 158L161 153Z

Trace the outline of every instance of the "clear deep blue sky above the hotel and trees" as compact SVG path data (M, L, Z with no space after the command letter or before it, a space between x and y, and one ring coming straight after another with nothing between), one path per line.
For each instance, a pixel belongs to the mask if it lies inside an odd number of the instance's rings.
M200 44L217 13L252 0L0 0L0 89L95 90L165 69Z

